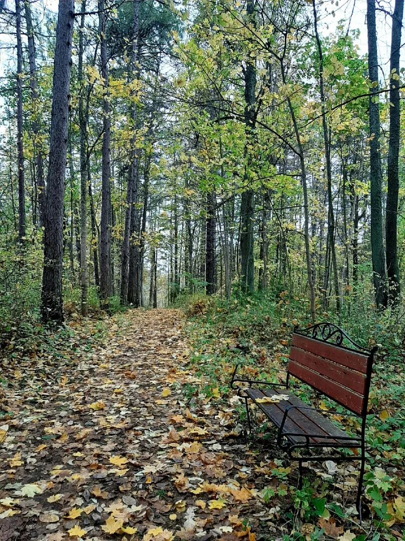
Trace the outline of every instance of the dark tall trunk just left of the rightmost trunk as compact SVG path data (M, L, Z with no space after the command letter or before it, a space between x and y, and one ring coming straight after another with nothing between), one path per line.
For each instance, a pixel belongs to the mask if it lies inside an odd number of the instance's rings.
M380 150L379 77L377 57L377 30L375 25L375 0L367 0L368 77L370 80L369 131L370 131L370 219L373 282L377 306L387 306L387 289L384 283L385 258L382 243L382 172Z

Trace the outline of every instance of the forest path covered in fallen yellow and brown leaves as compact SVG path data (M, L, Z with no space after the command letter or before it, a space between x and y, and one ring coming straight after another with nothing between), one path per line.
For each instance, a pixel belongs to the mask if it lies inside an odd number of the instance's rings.
M5 358L0 541L281 540L294 527L367 539L367 524L335 522L312 496L316 518L299 519L296 465L238 436L238 399L190 364L182 326L179 311L130 311L106 321L102 345L82 332L62 352ZM312 470L347 506L355 473Z

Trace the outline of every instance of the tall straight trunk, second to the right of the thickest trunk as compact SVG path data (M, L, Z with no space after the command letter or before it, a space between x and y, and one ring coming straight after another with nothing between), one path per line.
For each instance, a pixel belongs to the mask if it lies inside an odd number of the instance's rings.
M104 81L103 96L103 150L102 150L102 209L100 221L100 300L108 308L111 295L111 228L110 228L110 102L108 99L109 75L107 65L107 42L105 38L104 0L98 0L98 32L100 36L101 75Z

